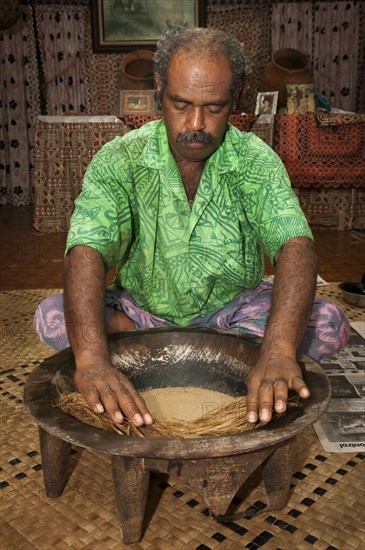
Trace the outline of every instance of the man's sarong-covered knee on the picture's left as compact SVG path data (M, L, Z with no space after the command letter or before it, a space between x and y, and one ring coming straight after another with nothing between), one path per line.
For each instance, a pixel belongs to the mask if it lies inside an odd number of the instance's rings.
M39 304L34 315L34 329L40 340L56 351L69 346L63 313L63 294L48 296Z

